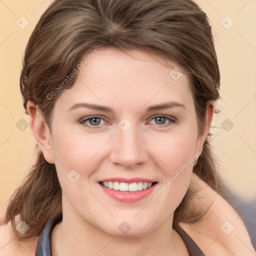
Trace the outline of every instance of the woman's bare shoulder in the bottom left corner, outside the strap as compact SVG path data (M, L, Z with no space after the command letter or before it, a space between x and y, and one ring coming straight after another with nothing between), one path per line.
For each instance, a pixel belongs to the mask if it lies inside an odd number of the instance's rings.
M0 226L0 256L34 256L38 237L18 241L11 232L10 222Z

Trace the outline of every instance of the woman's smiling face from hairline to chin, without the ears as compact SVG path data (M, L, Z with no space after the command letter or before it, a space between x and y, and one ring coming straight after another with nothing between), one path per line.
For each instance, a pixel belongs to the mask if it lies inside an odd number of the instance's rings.
M186 74L127 53L100 49L79 71L56 100L50 141L63 214L141 236L171 226L203 141Z

